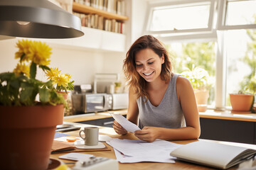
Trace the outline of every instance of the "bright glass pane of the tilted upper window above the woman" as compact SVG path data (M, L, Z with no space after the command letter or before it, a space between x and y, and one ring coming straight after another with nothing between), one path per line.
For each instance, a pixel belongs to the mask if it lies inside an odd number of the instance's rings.
M209 13L210 4L156 9L153 11L149 29L158 31L208 28Z

